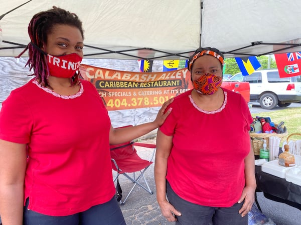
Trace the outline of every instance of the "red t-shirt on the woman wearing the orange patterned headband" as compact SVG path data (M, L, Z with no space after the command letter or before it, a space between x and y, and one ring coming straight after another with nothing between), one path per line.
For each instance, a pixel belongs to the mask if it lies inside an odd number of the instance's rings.
M240 94L223 90L224 104L213 113L194 104L192 90L175 97L160 127L173 135L166 176L173 190L187 201L213 207L229 207L240 198L250 151L247 103Z

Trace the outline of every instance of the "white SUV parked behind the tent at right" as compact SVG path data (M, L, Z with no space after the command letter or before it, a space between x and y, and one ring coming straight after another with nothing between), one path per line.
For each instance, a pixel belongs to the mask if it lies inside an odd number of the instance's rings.
M280 78L277 69L262 69L247 76L236 73L228 81L234 80L248 81L250 101L259 102L264 109L285 107L301 100L301 75Z

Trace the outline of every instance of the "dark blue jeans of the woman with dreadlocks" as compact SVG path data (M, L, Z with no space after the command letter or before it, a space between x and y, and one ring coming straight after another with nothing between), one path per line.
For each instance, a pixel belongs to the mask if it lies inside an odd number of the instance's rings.
M23 225L102 225L122 224L125 221L115 196L106 203L92 206L86 211L67 216L50 216L27 209L26 201Z

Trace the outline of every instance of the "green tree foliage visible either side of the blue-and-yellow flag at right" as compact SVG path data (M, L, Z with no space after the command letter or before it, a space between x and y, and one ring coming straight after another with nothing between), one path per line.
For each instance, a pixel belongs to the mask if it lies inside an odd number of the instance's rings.
M266 69L266 68L277 68L276 61L274 57L270 57L270 65L268 67L268 55L261 55L257 56L258 61L260 62L261 66L258 69ZM224 68L224 73L225 74L236 74L240 72L240 69L237 65L237 62L235 58L226 58L225 59L225 68Z

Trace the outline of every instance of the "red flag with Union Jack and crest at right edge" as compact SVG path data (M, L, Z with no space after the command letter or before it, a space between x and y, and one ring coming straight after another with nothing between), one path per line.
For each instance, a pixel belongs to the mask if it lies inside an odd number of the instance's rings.
M275 54L280 77L301 75L301 51Z

